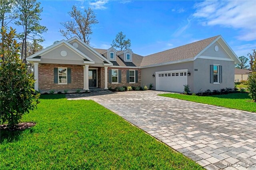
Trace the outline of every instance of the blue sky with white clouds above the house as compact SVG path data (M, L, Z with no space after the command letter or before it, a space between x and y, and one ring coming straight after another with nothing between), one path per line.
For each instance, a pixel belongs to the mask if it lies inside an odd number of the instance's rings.
M238 56L256 48L256 1L39 1L40 21L48 28L44 47L65 39L60 22L68 11L91 7L97 14L90 45L109 48L120 31L132 42L132 51L148 55L222 35Z

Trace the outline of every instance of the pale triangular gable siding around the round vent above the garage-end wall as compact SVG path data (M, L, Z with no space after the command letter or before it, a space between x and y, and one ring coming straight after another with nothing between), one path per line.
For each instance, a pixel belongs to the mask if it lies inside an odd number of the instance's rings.
M218 51L215 51L214 47L218 45ZM206 51L204 51L200 56L206 56L206 57L216 57L216 58L225 58L225 59L231 59L229 55L226 53L226 51L222 48L220 43L215 42L212 44Z

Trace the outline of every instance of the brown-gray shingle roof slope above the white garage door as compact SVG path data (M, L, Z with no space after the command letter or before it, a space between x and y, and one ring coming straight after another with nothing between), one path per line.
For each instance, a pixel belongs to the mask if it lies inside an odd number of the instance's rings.
M198 42L189 43L180 47L168 49L166 51L154 53L143 57L141 67L153 64L167 63L170 61L179 61L195 57L218 36L200 40Z

